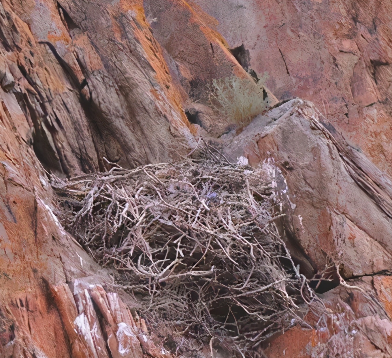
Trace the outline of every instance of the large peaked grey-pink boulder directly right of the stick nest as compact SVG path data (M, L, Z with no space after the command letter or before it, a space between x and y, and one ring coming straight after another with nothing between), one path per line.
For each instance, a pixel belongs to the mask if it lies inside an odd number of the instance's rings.
M390 270L390 179L365 157L356 164L340 138L314 105L292 100L256 117L227 154L254 166L273 159L281 169L288 188L277 193L295 207L285 225L316 271L326 256L344 265L346 278Z

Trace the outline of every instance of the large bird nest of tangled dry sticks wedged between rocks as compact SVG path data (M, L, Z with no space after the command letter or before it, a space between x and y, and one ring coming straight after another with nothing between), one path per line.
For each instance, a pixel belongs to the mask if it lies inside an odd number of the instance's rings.
M117 270L142 314L246 356L301 321L297 305L312 295L279 236L284 214L265 165L231 164L205 145L178 164L112 163L51 180L64 227Z

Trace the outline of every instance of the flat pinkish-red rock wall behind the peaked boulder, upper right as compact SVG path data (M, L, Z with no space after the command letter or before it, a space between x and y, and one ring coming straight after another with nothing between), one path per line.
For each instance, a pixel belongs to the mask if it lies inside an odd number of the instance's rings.
M390 1L193 0L279 100L314 102L348 142L391 175Z

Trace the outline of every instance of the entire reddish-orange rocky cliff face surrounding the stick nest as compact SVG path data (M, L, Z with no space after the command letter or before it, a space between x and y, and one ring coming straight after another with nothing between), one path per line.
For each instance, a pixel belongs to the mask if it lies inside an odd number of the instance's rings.
M233 161L274 161L302 274L339 262L309 327L254 356L391 356L390 14L388 1L2 0L1 356L185 355L64 231L48 177L176 161L200 136ZM278 104L294 96L315 105Z

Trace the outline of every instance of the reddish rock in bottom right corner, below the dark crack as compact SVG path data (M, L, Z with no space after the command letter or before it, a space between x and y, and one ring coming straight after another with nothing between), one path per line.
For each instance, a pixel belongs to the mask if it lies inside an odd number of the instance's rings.
M390 276L387 277L389 279ZM327 308L325 325L318 330L294 327L265 349L270 358L344 357L386 358L392 354L392 324L378 303L372 278L354 280L366 293L341 287L321 295ZM309 311L309 322L319 316Z

